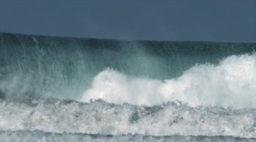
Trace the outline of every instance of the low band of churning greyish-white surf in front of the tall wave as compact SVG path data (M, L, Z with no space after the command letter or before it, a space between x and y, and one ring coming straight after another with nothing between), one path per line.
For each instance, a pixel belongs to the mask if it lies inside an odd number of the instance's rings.
M0 101L0 130L151 136L256 136L255 109L190 108L183 103L136 106L104 101Z

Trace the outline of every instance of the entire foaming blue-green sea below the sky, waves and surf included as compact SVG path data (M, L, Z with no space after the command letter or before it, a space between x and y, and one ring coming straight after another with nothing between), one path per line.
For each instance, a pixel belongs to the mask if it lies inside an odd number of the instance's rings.
M256 141L256 43L0 33L2 141Z

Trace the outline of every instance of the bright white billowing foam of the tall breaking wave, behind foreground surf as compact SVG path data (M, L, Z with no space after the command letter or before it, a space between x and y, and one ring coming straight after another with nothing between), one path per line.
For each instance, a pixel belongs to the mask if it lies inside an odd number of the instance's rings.
M182 101L190 106L256 108L256 54L231 56L219 65L203 64L165 81L129 77L107 69L93 80L80 101L158 105Z

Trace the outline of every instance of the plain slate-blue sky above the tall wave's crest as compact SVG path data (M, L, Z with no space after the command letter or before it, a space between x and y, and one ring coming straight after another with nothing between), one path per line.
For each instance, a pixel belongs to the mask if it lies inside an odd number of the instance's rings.
M0 32L256 42L255 0L0 0Z

